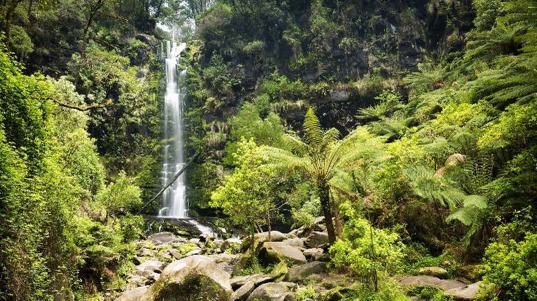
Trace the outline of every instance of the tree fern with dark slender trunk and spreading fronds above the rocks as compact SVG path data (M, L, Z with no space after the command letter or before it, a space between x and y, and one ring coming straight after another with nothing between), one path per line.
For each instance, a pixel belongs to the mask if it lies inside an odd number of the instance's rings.
M359 128L339 139L335 128L324 130L319 119L309 109L304 118L304 137L287 135L293 152L281 148L263 146L262 152L276 165L299 168L313 181L321 202L328 231L328 243L336 241L333 212L330 205L330 180L337 172L345 171L358 159L377 153L381 138L372 137L366 129Z

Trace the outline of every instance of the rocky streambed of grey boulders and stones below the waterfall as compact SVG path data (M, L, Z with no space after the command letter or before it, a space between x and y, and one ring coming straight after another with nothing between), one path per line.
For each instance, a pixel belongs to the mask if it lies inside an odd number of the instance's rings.
M328 274L328 235L322 219L310 229L268 232L243 240L210 234L187 240L161 232L136 243L136 267L127 285L108 291L105 300L341 300L355 286L344 275ZM251 263L257 263L257 270ZM434 269L433 269L434 270ZM425 272L425 274L430 274ZM440 276L441 275L436 275ZM431 286L456 300L472 300L478 283L424 275L398 278L404 286ZM417 300L417 299L416 299Z

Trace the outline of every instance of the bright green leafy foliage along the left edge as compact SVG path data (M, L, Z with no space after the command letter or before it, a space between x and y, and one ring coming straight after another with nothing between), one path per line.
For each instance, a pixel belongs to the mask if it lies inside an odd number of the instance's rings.
M88 204L97 196L107 209L136 205L122 196L140 202L140 190L125 174L103 187L105 170L86 131L87 115L53 102L83 101L70 82L24 76L6 52L0 55L0 298L43 300L81 290L82 282L94 292L112 280L107 271L128 263L133 249L125 243L138 238L140 219L105 225L86 216L96 215ZM112 186L121 190L107 199L114 204L104 197Z

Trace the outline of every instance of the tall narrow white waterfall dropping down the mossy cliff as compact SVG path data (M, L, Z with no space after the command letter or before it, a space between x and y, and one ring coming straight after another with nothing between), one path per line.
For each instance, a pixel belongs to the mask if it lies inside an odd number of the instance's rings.
M166 45L166 94L165 119L164 119L164 164L160 181L165 186L179 170L185 166L183 155L182 138L182 104L185 99L186 70L180 71L177 78L177 62L180 60L180 53L185 49L186 43L170 43ZM173 184L162 194L162 203L158 216L185 218L188 216L187 199L185 197L185 174L173 182Z

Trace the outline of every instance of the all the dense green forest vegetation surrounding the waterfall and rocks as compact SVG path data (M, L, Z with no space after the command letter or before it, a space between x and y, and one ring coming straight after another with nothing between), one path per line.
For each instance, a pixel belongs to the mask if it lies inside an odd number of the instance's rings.
M361 283L350 300L403 300L384 280L432 265L494 283L483 300L537 300L536 1L6 0L0 15L0 300L125 281L144 235L131 213L159 185L156 21L188 41L191 209L239 234L324 215L333 269Z

